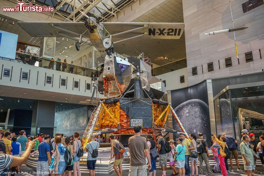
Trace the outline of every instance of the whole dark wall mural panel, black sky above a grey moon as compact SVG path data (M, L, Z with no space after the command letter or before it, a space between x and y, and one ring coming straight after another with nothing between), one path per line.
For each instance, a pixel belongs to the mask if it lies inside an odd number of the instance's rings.
M197 138L199 133L204 134L208 145L211 144L211 127L207 84L199 84L171 91L171 105L188 134L194 133ZM172 118L173 129L181 131L178 123ZM176 139L179 134L174 134Z

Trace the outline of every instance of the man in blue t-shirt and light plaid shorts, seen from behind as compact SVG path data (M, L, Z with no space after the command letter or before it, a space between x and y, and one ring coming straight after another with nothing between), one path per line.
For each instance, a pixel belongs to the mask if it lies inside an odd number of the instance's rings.
M37 160L37 176L49 175L50 146L48 144L50 135L44 136L44 141L39 144L39 159Z

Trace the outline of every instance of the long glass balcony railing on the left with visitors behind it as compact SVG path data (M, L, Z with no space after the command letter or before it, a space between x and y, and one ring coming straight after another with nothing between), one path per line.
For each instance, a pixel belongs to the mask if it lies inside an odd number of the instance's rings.
M27 64L32 66L38 66L51 70L58 70L58 72L68 72L72 74L87 76L87 77L98 77L102 72L78 65L68 64L57 60L51 60L34 56L26 53L16 52L15 59L4 58L0 56L2 60L9 60L21 64Z

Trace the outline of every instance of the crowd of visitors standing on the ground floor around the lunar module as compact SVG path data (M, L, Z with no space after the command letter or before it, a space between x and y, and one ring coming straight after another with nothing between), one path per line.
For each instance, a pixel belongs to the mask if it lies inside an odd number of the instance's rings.
M233 136L225 133L215 136L212 134L211 151L215 160L214 168L209 165L209 145L206 142L208 136L199 133L196 135L190 133L186 136L184 133L176 140L166 141L162 134L157 135L157 144L152 135L142 137L141 126L134 127L135 135L128 140L130 154L129 176L156 175L156 162L159 157L159 166L161 167L161 176L166 176L167 161L172 169L171 176L198 176L199 172L205 174L203 162L206 166L208 175L213 173L234 172L233 159L237 165L237 172L243 172L238 162L238 145ZM73 136L66 137L63 134L56 133L55 137L39 134L38 136L26 136L25 130L21 130L17 136L10 131L4 132L0 129L0 172L5 176L10 168L11 175L15 172L21 172L20 166L25 163L30 152L38 150L37 176L81 176L80 159L83 153L87 153L87 169L90 176L95 176L95 165L98 158L99 143L104 142L105 138L100 135L91 135L90 141L86 146L82 146L79 139L79 133L75 132ZM111 152L110 158L114 158L113 168L118 176L121 176L122 162L124 159L124 146L119 142L114 134L109 134ZM242 142L240 151L243 157L245 173L248 176L254 176L253 173L260 173L256 170L256 160L260 158L264 170L263 146L264 136L255 140L253 133L249 134L247 130L242 130ZM83 151L85 149L85 152ZM257 154L258 153L258 154ZM231 171L229 171L228 159L230 161ZM190 167L191 165L191 167ZM198 170L199 165L199 170ZM263 173L262 173L263 174Z

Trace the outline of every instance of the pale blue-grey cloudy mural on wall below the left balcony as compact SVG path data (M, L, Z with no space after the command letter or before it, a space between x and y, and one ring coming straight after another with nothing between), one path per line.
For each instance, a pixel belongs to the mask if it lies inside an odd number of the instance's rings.
M65 136L72 136L76 131L82 136L87 126L87 106L57 111L54 126Z

